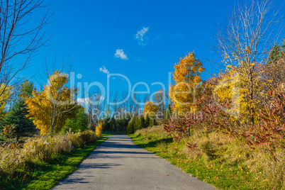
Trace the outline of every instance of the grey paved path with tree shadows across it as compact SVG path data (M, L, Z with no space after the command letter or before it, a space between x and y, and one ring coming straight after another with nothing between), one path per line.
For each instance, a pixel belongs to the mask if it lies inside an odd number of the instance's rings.
M54 189L215 189L138 147L128 135L110 135Z

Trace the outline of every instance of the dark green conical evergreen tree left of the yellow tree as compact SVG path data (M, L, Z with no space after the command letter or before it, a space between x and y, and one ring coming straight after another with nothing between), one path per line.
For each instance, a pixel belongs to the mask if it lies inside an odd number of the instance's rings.
M19 100L4 118L2 125L13 125L13 136L18 141L20 137L26 137L35 133L35 125L29 116L25 101Z

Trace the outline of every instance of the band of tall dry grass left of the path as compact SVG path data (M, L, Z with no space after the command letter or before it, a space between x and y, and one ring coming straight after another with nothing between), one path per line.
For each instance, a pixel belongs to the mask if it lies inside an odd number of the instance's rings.
M23 145L3 145L0 149L0 177L16 177L33 163L50 162L75 148L96 143L96 140L93 131L84 131L53 138L29 138Z

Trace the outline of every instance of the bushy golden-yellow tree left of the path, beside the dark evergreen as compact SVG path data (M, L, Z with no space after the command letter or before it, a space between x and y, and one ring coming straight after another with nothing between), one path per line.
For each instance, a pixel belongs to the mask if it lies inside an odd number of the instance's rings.
M53 135L60 132L67 118L76 116L79 105L74 101L75 89L67 88L67 74L53 72L43 91L33 91L26 103L33 123L42 135Z

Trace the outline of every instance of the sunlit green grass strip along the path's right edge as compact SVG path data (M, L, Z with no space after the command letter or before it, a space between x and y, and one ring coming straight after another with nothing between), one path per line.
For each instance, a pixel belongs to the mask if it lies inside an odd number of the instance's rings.
M211 163L206 160L190 160L179 151L179 143L172 138L145 138L143 135L129 135L134 143L154 152L182 171L212 184L217 189L269 189L267 181L257 180L246 166L225 164L220 160ZM209 164L206 164L206 163Z

